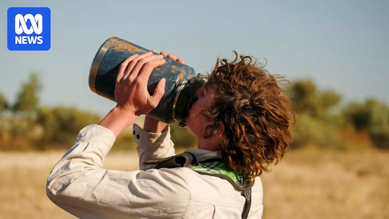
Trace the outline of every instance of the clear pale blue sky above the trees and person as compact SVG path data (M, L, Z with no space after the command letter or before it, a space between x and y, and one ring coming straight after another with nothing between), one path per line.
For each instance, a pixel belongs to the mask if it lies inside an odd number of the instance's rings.
M8 51L8 7L50 7L51 49ZM109 37L175 53L209 72L232 50L268 60L287 79L312 78L344 101L389 103L387 0L2 0L0 92L14 101L30 71L40 71L43 105L107 113L114 102L89 90L88 73Z

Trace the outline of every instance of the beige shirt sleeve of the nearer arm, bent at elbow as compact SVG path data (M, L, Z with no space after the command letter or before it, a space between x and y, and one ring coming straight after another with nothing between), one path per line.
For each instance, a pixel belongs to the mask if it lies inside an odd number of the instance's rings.
M48 198L79 218L181 218L190 194L181 170L105 170L115 140L105 127L84 127L49 173Z

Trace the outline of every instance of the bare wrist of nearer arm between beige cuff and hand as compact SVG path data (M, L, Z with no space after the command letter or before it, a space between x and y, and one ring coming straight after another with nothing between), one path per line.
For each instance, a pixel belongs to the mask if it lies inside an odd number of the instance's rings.
M111 130L117 137L120 132L131 125L137 117L138 116L133 112L115 107L105 118L103 118L99 125Z

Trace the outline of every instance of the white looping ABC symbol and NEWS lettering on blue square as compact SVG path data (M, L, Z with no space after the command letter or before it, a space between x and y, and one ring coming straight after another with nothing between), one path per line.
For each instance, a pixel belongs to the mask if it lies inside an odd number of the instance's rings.
M30 21L31 27L27 27L27 21ZM23 33L37 35L43 32L43 17L42 14L16 14L15 16L15 33L21 35ZM42 36L15 36L15 44L42 44Z

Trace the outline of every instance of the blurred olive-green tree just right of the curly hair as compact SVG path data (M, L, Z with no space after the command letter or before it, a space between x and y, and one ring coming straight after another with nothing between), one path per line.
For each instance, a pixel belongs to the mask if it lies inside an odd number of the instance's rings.
M287 88L294 109L298 113L293 131L293 147L316 145L343 148L338 134L342 120L331 113L342 97L332 90L321 92L312 80L297 80Z

